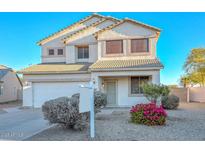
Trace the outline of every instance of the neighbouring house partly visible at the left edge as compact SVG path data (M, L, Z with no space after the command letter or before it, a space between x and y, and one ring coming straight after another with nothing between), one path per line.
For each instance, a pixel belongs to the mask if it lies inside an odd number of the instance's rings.
M17 74L0 65L0 103L21 99L22 84Z

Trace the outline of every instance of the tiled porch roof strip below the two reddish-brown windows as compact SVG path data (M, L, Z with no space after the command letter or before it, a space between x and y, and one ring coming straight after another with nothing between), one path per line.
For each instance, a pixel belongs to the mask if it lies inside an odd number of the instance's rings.
M162 68L163 65L158 59L98 60L96 63L90 66L90 69L133 69L150 67Z

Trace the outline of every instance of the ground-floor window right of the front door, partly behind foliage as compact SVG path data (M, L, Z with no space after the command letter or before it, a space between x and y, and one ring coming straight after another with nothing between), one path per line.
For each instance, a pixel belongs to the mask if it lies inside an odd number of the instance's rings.
M131 77L131 94L143 94L142 85L149 82L149 76Z

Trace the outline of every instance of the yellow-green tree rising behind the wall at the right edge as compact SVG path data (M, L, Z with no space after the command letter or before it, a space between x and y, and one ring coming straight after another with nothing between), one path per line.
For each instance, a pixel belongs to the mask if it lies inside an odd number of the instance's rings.
M184 64L186 78L181 81L189 81L193 84L205 86L205 48L193 49Z

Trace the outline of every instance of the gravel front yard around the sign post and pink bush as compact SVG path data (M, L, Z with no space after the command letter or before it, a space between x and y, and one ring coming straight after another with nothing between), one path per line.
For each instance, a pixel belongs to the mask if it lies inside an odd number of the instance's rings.
M107 108L96 115L94 140L205 140L205 103L181 103L169 110L165 126L130 123L129 108ZM27 140L91 140L89 129L66 130L54 126Z

